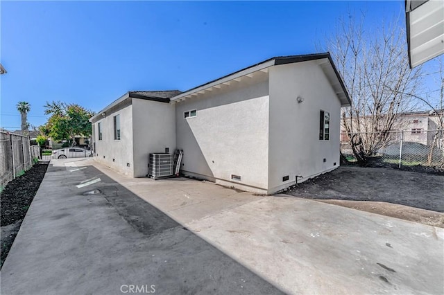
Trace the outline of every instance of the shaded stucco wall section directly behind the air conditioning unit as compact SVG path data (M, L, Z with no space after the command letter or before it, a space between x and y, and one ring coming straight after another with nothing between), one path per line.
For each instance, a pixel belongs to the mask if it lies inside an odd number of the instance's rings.
M133 98L134 177L148 174L150 153L176 148L176 111L172 104Z

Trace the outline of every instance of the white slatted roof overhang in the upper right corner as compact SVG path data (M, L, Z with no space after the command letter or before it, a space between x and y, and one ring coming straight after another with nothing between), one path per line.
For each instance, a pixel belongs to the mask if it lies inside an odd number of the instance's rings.
M406 1L411 68L444 53L444 1Z

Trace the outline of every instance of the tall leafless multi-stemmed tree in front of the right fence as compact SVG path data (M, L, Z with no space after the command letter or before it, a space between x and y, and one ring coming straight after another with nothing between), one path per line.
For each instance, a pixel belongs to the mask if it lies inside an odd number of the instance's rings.
M361 166L388 144L398 115L413 109L411 94L420 86L421 73L421 67L410 69L400 26L366 31L364 19L340 19L336 34L327 38L352 99L352 106L343 109L342 125Z

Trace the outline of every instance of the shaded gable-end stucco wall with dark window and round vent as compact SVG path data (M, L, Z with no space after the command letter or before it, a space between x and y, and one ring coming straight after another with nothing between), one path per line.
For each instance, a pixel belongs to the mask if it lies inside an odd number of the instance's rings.
M330 112L329 141L319 140L321 110ZM339 166L340 115L341 103L316 61L270 68L268 193L294 184L296 175L304 181Z

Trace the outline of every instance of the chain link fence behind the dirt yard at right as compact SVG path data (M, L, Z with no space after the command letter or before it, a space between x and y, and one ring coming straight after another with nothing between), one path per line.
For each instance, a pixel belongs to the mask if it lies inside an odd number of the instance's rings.
M359 144L366 144L371 141L370 138L377 137L376 132L357 135L357 138L362 138ZM348 161L356 161L352 145L344 134L341 136L341 153ZM390 132L384 144L375 145L372 161L381 166L395 164L398 168L425 166L444 170L444 130L411 129Z

